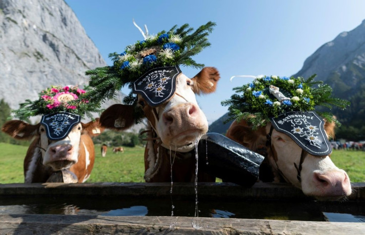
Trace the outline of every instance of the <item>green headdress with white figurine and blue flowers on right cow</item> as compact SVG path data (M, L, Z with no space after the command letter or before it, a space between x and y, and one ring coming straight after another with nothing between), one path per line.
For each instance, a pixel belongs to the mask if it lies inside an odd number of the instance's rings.
M234 88L236 94L222 101L229 106L230 120L247 120L253 128L264 126L270 118L290 111L313 111L316 106L346 108L350 102L333 97L332 88L322 81L314 81L316 75L304 80L302 77L263 76L242 87ZM314 87L314 85L318 85ZM328 122L335 121L329 112L317 111Z

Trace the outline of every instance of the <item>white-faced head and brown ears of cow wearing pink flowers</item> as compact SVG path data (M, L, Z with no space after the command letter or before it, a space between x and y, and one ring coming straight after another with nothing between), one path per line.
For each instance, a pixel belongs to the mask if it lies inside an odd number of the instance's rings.
M6 122L1 130L17 140L35 138L30 146L36 148L33 154L40 152L43 166L52 168L52 171L68 169L77 163L81 135L94 136L102 131L98 119L86 124L79 122L73 125L68 134L60 140L50 140L47 127L41 123L31 125L20 120L11 120Z

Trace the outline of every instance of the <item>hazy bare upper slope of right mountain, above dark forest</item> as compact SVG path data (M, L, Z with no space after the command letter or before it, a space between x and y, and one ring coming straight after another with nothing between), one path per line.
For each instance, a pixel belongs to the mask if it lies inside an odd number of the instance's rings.
M365 20L319 47L294 76L307 78L312 74L331 85L336 96L349 98L358 92L365 84Z

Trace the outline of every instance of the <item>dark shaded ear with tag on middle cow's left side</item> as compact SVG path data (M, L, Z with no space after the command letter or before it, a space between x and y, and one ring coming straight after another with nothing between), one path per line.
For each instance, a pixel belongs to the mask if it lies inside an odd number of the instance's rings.
M134 106L113 104L100 115L100 125L115 131L124 131L134 124Z

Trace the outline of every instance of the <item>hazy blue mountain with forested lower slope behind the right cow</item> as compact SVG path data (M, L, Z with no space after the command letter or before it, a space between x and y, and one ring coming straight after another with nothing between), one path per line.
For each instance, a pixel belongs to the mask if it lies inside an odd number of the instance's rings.
M336 137L365 140L365 20L354 30L342 32L319 47L293 76L308 78L313 74L332 87L334 96L351 102L345 110L332 110L343 124ZM223 125L222 120L227 117L228 113L213 122L209 131L226 133L229 125Z

